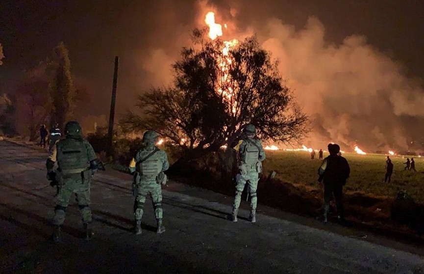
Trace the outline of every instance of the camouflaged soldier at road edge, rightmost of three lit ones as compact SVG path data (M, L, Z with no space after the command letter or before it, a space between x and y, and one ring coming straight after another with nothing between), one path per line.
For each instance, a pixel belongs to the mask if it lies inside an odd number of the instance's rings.
M237 213L240 206L241 196L246 183L250 194L250 216L251 222L256 222L256 190L258 187L259 173L262 172L262 161L265 160L265 152L262 143L255 138L256 128L252 124L245 126L244 138L240 140L235 150L239 152L239 172L236 175L236 193L234 197L232 221L237 221Z

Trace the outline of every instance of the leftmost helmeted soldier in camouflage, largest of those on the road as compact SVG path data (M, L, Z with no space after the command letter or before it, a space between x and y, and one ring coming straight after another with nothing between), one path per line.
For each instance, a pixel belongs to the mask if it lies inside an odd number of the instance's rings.
M97 171L99 160L91 144L82 137L82 130L75 121L65 126L65 139L59 140L50 151L46 167L50 185L57 187L55 196L53 224L56 229L52 237L55 242L60 240L60 230L65 221L65 210L69 199L75 193L78 207L81 210L82 223L85 229L86 240L92 236L89 229L91 222L90 182L92 175ZM57 169L54 170L54 163Z

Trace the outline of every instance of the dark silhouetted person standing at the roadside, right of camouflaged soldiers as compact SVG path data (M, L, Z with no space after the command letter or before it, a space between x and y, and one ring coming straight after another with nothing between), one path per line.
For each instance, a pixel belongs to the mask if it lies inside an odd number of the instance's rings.
M344 220L343 209L343 186L350 175L350 167L348 161L339 156L340 146L337 144L329 144L328 152L330 156L325 157L323 163L318 168L318 181L324 182L324 222L327 221L327 214L330 208L330 201L333 196L336 200L339 219Z

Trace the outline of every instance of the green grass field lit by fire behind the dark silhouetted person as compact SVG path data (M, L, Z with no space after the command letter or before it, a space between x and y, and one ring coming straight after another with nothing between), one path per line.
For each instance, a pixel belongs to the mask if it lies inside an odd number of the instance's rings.
M321 160L312 160L306 151L266 151L265 174L276 171L276 177L307 191L321 190L317 170ZM328 154L324 153L324 157ZM416 202L424 203L424 158L414 157L417 172L404 170L406 158L390 156L394 164L392 182L384 183L385 155L344 153L350 165L350 178L345 192L361 192L376 197L395 197L398 188L410 194Z

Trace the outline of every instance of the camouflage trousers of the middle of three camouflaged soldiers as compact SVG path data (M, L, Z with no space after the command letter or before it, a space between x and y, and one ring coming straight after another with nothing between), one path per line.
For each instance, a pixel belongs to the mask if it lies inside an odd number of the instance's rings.
M162 189L160 184L156 183L156 179L151 181L141 181L138 185L137 196L134 201L134 219L141 220L143 217L143 207L146 202L146 196L150 194L154 215L156 219L162 219Z

